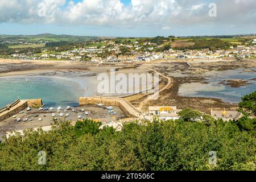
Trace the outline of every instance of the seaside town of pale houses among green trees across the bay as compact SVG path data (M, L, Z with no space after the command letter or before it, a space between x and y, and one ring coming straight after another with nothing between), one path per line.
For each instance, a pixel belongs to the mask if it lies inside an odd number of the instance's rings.
M210 42L210 43L209 43ZM6 41L12 45L17 42ZM5 57L23 60L71 60L94 62L150 62L152 60L250 59L255 57L256 39L245 38L101 38L92 42L39 40L19 42ZM45 46L44 46L45 45ZM40 47L43 46L43 47ZM208 47L208 48L204 48ZM1 49L0 49L1 50Z

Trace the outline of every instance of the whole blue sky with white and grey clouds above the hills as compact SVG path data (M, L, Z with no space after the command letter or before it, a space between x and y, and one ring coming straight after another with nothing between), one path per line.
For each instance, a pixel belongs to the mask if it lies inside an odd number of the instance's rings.
M209 16L211 2L216 5L213 17ZM43 17L38 15L39 3L46 7ZM0 12L0 34L12 35L152 37L256 32L255 0L1 0Z

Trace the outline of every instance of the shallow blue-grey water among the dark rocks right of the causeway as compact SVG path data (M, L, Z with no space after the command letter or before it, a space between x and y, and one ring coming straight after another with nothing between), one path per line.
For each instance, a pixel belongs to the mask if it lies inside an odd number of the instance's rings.
M256 71L256 69L254 69ZM224 102L237 104L241 102L241 97L256 90L256 72L245 72L243 69L234 69L229 71L212 71L205 74L207 84L188 83L179 88L181 96L188 97L207 97L220 98ZM232 88L229 85L220 84L224 80L242 79L249 81L250 84L238 88Z

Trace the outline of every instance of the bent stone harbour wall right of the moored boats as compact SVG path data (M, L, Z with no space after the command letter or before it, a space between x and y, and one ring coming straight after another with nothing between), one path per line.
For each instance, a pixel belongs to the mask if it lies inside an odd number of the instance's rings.
M96 105L102 103L109 106L118 106L126 115L133 118L138 118L141 115L136 107L134 107L125 98L117 97L80 97L79 105Z

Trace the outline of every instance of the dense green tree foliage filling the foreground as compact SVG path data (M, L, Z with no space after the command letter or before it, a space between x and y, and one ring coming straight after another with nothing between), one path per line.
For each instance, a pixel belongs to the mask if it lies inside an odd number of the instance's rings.
M129 123L119 132L90 120L61 122L47 133L28 130L0 143L0 170L255 170L255 118L224 122L203 115L204 122L195 122L199 111L180 114L176 121ZM45 165L39 151L46 152ZM209 163L210 151L217 165Z

